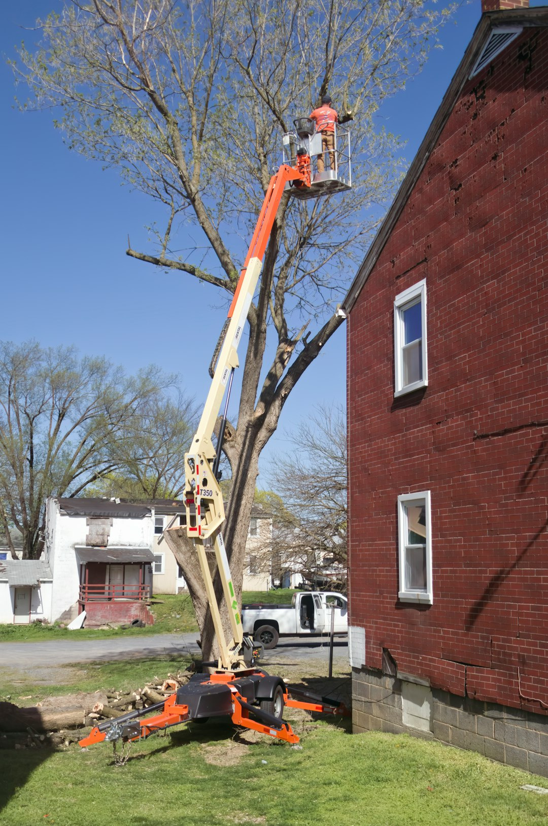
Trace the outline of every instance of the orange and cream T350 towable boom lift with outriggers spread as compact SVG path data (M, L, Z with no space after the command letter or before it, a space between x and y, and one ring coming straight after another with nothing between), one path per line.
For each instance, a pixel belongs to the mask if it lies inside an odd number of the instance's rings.
M280 677L270 676L262 668L253 666L253 641L243 634L229 560L220 531L224 522L224 505L219 485L219 461L234 370L239 366L237 350L281 197L286 191L299 198L319 197L351 186L349 143L347 154L344 150L336 150L336 158L342 158L343 163L338 160L334 170L321 176L316 173L313 177L310 154L314 150L318 154L321 152L321 135L317 136L319 142L316 139L314 143L314 126L311 121L306 121L308 118L298 118L294 121L295 132L284 135L284 147L290 150L294 165L281 164L268 185L228 319L210 367L212 382L206 405L192 439L191 450L185 453L186 532L194 540L200 563L219 646L219 661L213 673L195 674L186 686L179 688L167 700L98 724L86 738L80 740L82 747L103 740L116 743L121 739L128 743L172 725L224 715L229 715L236 725L255 729L288 743L298 743L299 738L291 725L282 719L284 706L332 714L346 713L343 704L295 688L290 690ZM347 165L344 174L340 171L343 164ZM224 414L214 448L211 436L224 396ZM178 547L177 531L181 530L171 528L164 534L172 550ZM211 546L229 612L232 634L229 640L224 635L208 564L207 553ZM154 717L139 719L154 712L158 712Z

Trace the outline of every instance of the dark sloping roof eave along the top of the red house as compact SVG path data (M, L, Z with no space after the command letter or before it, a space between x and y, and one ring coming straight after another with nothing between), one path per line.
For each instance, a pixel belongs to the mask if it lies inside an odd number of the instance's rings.
M352 281L346 296L343 298L341 311L345 315L352 310L386 241L390 238L390 233L394 229L394 225L398 221L401 211L413 191L413 187L417 183L428 158L432 154L432 150L436 146L439 136L442 134L446 121L453 111L456 99L470 78L470 72L476 60L480 57L481 50L484 48L485 42L489 37L489 32L497 26L508 25L523 27L548 26L548 7L507 9L503 12L487 12L480 17L480 22L475 28L474 35L468 44L458 69L456 69L456 73L453 75L442 102L432 119L432 123L428 127L426 135L424 135L423 142L419 146L418 152L409 166L396 197L389 211L386 213L384 221L380 225L380 229L366 254L366 258L363 260L363 263L361 263L356 277Z

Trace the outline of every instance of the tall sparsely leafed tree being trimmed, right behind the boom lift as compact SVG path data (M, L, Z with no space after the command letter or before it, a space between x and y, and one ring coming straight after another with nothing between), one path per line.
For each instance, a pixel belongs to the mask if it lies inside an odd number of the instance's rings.
M117 166L166 208L157 249L127 254L207 282L227 304L281 133L327 89L354 112L352 193L291 207L284 197L248 312L238 420L223 445L238 594L259 455L343 322L336 302L399 181L398 140L376 111L421 68L446 13L424 0L73 0L39 22L40 47L14 64L31 88L26 105L60 105L73 149ZM202 627L201 577L182 556Z

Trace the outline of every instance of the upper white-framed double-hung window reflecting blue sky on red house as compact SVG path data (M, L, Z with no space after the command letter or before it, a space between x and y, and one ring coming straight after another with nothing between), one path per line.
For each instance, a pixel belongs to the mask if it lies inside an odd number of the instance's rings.
M424 280L395 297L394 367L394 396L428 385Z

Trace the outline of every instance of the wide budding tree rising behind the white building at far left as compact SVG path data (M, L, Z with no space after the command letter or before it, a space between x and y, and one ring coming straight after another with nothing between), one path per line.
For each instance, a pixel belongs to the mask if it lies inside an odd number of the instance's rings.
M21 533L23 558L38 557L46 497L78 496L125 467L130 435L171 384L153 367L126 377L72 348L0 342L0 526L13 557L10 527ZM133 456L131 468L153 456L147 434Z

